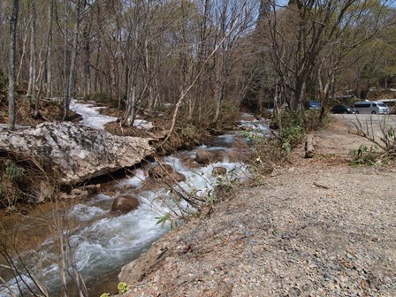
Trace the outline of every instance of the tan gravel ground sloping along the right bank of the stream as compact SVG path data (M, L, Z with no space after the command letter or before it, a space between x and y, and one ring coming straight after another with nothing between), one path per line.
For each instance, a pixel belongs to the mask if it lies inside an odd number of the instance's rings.
M316 157L301 146L157 240L126 296L396 296L396 170L351 166L366 141L334 118L313 133Z

